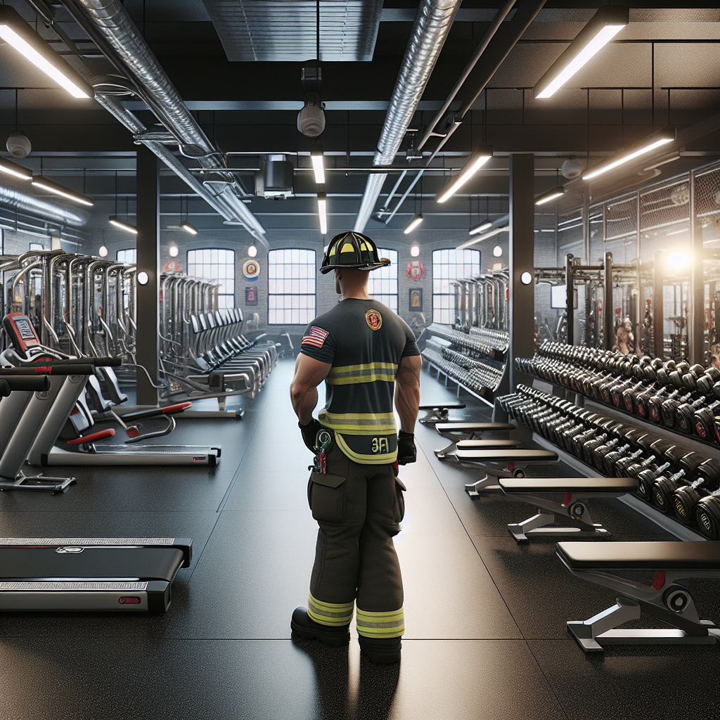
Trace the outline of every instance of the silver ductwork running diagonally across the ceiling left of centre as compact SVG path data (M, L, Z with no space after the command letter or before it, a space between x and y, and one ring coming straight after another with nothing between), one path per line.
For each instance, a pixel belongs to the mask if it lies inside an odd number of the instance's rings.
M137 91L138 96L148 104L153 114L175 138L181 154L194 158L204 168L217 170L223 182L209 183L210 187L200 184L161 142L143 139L147 128L135 115L122 107L117 98L98 93L96 100L225 217L225 220L244 225L256 240L266 246L265 229L235 192L235 177L224 172L225 164L221 153L213 147L192 117L120 0L62 1L73 19L112 66L131 81L132 89ZM218 188L217 192L215 187Z

